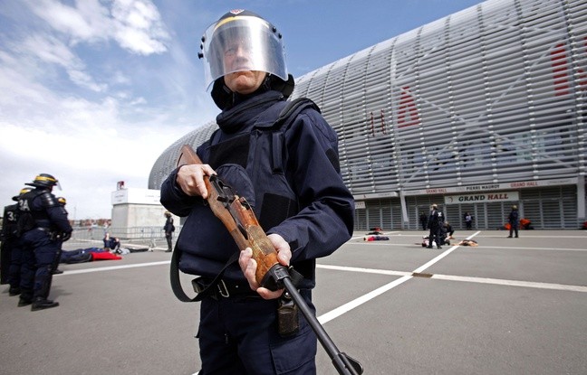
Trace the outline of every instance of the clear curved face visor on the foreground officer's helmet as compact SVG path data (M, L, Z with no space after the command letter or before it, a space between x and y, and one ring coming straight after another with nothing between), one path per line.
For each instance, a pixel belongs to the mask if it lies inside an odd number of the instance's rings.
M202 38L206 86L226 74L257 70L287 80L284 42L271 23L250 15L223 18Z

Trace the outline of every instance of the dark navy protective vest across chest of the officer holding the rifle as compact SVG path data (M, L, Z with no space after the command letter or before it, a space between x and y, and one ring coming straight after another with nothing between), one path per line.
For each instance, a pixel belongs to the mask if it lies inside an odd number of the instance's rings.
M284 133L305 108L320 108L308 98L281 100L267 108L249 132L219 142L220 130L211 137L205 160L223 176L223 166L245 170L250 181L233 182L236 192L253 207L264 230L300 211L300 203L285 175L288 163ZM229 182L231 183L231 182Z

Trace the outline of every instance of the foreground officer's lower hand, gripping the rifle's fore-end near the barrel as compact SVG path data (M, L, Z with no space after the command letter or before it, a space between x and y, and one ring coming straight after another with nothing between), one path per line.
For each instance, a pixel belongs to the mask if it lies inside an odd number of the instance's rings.
M290 259L292 258L292 251L289 244L278 234L270 234L267 238L273 243L275 250L277 250L277 260L279 263L285 267L289 266ZM251 248L245 248L241 251L238 258L238 264L243 270L249 286L265 299L278 298L284 293L284 289L271 291L265 287L259 286L259 283L256 282L256 261L252 257L253 250Z

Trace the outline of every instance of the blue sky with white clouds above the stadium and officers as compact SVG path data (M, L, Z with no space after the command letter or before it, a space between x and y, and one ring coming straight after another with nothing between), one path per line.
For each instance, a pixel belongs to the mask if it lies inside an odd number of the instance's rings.
M0 202L49 173L70 219L109 219L117 182L147 189L159 155L219 113L197 52L231 9L274 23L301 77L480 2L2 0Z

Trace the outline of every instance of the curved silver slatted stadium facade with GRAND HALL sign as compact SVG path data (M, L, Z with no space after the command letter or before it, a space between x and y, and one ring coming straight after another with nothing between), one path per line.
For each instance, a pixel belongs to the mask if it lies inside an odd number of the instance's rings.
M296 80L339 136L356 230L447 220L503 226L513 204L535 229L585 220L587 2L489 0L380 42ZM181 145L159 156L159 189Z

